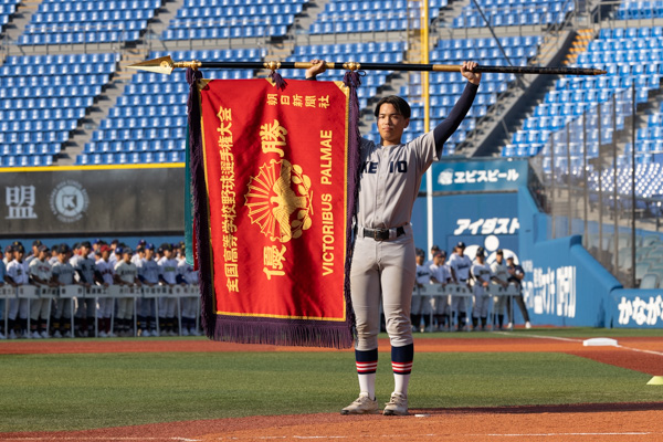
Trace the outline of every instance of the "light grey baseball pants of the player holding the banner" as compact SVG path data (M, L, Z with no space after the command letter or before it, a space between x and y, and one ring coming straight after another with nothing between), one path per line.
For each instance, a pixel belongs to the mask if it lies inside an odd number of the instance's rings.
M357 318L357 350L378 348L380 295L391 346L412 344L410 307L417 263L412 230L406 231L396 240L375 241L358 235L355 242L350 290Z

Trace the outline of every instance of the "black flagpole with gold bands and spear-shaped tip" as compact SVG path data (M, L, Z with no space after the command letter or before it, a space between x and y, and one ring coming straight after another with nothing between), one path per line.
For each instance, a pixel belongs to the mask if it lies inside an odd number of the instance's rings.
M160 59L148 60L131 64L128 67L170 75L176 69L251 69L251 70L278 70L278 69L303 69L313 64L309 62L173 62L167 55ZM344 71L430 71L430 72L461 72L461 65L455 64L408 64L408 63L334 63L326 62L328 70ZM504 74L545 74L545 75L603 75L606 71L585 67L539 67L539 66L482 66L475 67L481 73Z

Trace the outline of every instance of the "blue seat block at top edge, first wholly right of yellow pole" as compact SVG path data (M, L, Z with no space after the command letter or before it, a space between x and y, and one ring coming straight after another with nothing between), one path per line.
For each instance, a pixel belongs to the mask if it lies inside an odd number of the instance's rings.
M492 27L537 25L561 23L573 10L573 1L565 0L484 0L480 2L483 13ZM453 20L454 28L484 28L485 20L470 3Z

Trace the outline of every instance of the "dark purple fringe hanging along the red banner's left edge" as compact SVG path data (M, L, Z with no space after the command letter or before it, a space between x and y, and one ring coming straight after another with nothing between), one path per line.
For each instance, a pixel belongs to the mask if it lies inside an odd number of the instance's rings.
M189 99L187 101L189 123L189 148L191 149L191 188L193 190L193 225L196 229L200 298L202 304L202 327L208 337L214 336L214 283L211 280L212 255L209 235L208 194L204 183L204 164L202 154L202 128L200 125L201 109L198 81L202 73L198 70L187 69L187 83L189 83Z

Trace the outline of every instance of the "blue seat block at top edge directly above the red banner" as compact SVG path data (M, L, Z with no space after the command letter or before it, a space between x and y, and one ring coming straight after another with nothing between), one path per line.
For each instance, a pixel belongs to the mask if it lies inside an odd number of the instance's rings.
M283 36L307 0L185 0L162 40Z

